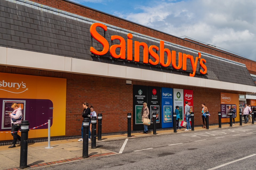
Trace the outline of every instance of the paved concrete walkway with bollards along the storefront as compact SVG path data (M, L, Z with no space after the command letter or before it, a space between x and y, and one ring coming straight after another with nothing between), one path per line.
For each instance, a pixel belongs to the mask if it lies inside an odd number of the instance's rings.
M250 126L251 123L244 124L243 126ZM233 127L241 127L239 123L233 125ZM218 125L210 126L211 130L220 129ZM222 128L229 128L229 125L222 125ZM178 133L190 133L191 131L177 130ZM195 131L206 131L206 129L201 127L195 127ZM157 131L157 135L164 134L172 134L173 130L161 130ZM148 134L142 133L133 133L131 134L131 138L138 138L143 136L152 136L153 132L149 132ZM154 135L155 136L155 135ZM102 141L108 140L118 140L118 139L126 139L127 134L123 135L109 135L102 136ZM97 146L100 146L101 141L97 141ZM34 169L37 167L50 166L56 164L62 164L65 162L79 161L84 160L82 158L82 142L78 142L77 139L69 139L69 140L58 140L51 141L52 149L45 149L48 147L47 142L39 142L39 143L29 143L28 146L28 161L27 164L29 168ZM108 156L115 155L117 152L97 148L90 149L89 146L89 158L92 159L94 157L99 156ZM0 146L0 169L19 169L19 157L20 157L20 146L16 146L15 148L8 148L8 146Z

